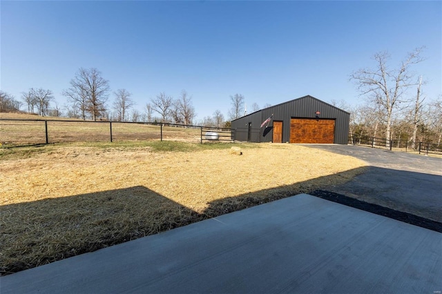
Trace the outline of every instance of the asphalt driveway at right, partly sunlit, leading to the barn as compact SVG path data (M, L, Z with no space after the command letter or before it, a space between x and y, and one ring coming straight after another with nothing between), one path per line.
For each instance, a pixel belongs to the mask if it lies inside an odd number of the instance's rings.
M369 168L325 189L363 202L442 222L442 159L352 145L305 145L362 159Z

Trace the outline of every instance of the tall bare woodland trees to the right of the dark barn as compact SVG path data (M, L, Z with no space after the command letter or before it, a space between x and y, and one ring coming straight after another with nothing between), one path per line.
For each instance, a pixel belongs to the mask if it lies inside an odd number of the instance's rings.
M400 147L419 141L438 146L442 139L442 95L426 97L422 75L414 66L425 61L424 47L416 48L398 66L390 66L391 55L378 52L374 67L352 72L350 79L365 104L347 108L350 112L349 135L383 138L386 145Z

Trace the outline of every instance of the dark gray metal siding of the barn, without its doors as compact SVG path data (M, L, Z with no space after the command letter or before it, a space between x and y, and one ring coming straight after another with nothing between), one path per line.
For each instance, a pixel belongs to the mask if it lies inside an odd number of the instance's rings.
M273 133L271 128L273 128L273 121L282 121L282 141L288 142L290 140L290 119L295 117L314 118L316 111L320 111L320 118L336 119L334 143L347 144L350 114L311 96L305 96L299 99L287 101L285 103L254 112L246 117L236 119L232 121L232 128L247 128L247 124L251 122L252 128L256 130L257 128L260 128L262 121L265 121L265 119L273 114L272 120L269 124L270 129L266 130L264 127L261 128L259 140L262 142L272 141ZM236 139L240 141L247 141L247 132L237 133ZM256 139L251 141L256 141Z

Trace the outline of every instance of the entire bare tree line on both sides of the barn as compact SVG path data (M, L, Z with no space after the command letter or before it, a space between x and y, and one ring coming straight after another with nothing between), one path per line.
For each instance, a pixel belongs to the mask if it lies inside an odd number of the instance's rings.
M330 103L350 113L349 135L356 137L379 137L394 144L410 142L416 148L418 141L441 144L442 139L442 95L426 97L423 77L413 71L413 66L425 59L424 48L416 48L401 60L398 66L390 65L390 54L378 52L373 56L374 66L351 73L363 104L349 106L344 101ZM195 108L192 96L182 90L174 99L165 92L151 98L144 106L144 112L133 108L135 102L131 92L118 89L111 92L108 81L96 68L79 68L70 80L70 87L63 90L67 98L64 115L79 119L107 119L113 121L148 121L173 124L195 124ZM113 96L111 107L107 106ZM0 90L0 112L19 111L23 103L28 112L41 116L61 116L61 108L54 101L51 90L30 88L22 93L22 101ZM220 110L196 122L202 126L229 128L230 121L248 113L260 110L258 104L249 106L241 94L230 96L231 108L227 119ZM52 107L51 104L54 104ZM266 104L264 108L271 106Z

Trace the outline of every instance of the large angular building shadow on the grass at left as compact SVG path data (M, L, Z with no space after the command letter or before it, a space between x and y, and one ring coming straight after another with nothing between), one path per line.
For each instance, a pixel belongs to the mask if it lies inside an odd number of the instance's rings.
M0 215L2 274L204 218L144 186L3 205Z

